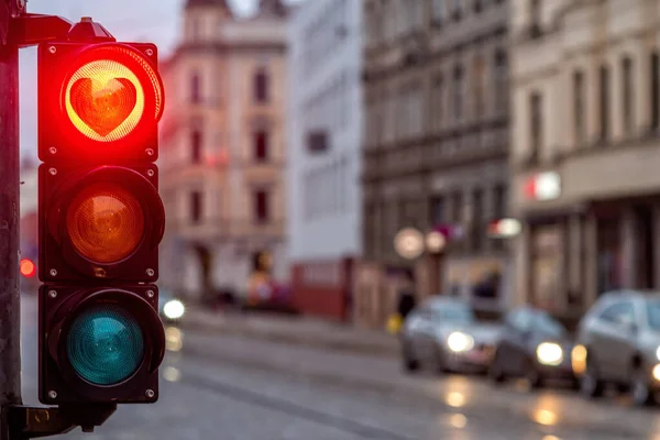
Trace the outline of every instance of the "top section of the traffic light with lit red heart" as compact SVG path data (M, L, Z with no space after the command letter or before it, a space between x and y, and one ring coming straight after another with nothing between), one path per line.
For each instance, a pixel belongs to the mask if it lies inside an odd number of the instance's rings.
M157 157L164 89L153 44L40 46L42 161Z

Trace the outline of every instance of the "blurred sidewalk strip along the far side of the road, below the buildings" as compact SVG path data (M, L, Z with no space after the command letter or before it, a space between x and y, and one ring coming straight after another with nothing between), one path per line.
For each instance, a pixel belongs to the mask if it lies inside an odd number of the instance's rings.
M398 341L385 331L297 316L211 311L189 307L182 328L320 349L398 356Z

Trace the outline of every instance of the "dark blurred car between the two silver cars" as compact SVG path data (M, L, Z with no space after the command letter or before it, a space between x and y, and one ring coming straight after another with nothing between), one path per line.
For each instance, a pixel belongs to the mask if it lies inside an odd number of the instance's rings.
M524 377L531 388L554 378L570 380L575 385L572 350L569 332L559 321L543 310L521 307L504 318L488 377L494 383Z

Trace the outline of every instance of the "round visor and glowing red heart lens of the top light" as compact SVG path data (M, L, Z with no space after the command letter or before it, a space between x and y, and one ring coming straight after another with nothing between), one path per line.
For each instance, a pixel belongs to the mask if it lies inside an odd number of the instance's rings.
M163 111L163 87L143 55L122 45L102 45L84 53L63 85L63 108L85 138L121 141L145 119Z

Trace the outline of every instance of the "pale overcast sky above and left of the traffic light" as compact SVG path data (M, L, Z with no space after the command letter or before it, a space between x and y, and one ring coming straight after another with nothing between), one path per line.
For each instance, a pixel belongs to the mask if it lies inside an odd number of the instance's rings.
M118 41L148 41L161 56L170 53L179 35L185 0L30 0L33 13L62 15L76 22L92 16ZM289 1L296 2L296 1ZM250 14L256 0L230 0L237 13ZM21 148L36 157L36 50L21 50Z

